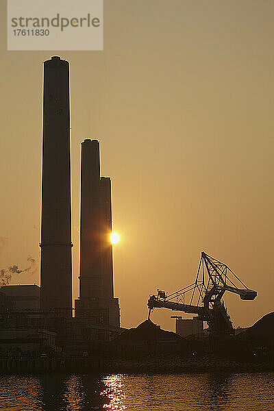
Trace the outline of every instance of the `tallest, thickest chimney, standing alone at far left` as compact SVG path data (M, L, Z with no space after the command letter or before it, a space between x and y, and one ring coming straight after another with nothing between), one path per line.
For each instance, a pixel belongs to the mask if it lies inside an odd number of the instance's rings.
M71 315L69 62L44 62L41 309Z

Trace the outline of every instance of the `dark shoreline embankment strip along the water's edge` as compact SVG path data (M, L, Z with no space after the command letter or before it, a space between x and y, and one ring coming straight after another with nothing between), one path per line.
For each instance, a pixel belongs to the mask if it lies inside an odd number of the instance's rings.
M190 373L253 373L273 372L270 362L239 362L222 358L147 358L121 360L100 358L8 358L0 359L0 375L14 374L190 374Z

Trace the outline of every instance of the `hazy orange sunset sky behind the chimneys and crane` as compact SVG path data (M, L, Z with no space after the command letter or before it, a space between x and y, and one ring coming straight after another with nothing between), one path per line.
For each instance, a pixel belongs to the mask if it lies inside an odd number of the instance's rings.
M3 0L0 16L0 269L37 262L11 284L40 282L42 62L60 55L71 64L73 299L80 143L97 138L122 326L147 318L156 288L192 283L201 251L258 291L225 297L235 326L273 311L274 1L105 0L103 51L6 51ZM173 329L175 314L151 318Z

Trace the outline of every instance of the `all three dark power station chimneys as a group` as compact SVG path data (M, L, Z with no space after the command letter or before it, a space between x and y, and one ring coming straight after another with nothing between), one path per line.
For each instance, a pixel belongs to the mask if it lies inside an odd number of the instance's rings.
M44 63L41 309L72 315L69 62ZM111 182L100 176L98 140L82 142L80 292L75 317L119 327L114 298Z

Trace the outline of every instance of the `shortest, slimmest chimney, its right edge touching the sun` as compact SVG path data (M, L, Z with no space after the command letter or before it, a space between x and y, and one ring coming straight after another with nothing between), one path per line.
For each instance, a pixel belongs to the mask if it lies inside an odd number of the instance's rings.
M112 203L110 177L100 179L100 223L101 223L101 273L103 297L113 298L112 243Z

